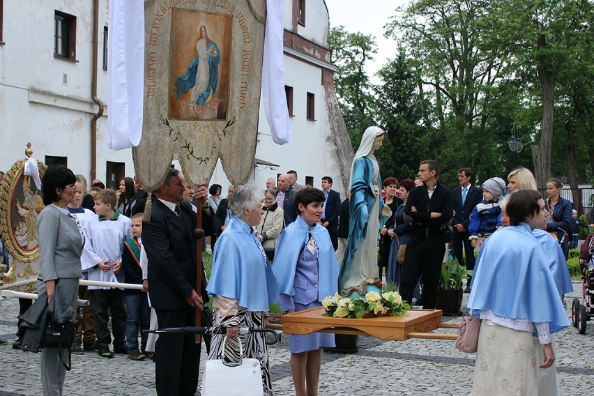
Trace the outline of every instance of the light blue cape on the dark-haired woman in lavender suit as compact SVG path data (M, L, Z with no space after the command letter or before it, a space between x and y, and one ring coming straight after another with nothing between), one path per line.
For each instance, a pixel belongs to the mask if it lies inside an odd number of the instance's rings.
M326 296L334 296L338 289L338 260L328 235L328 230L320 224L307 225L301 216L287 226L280 234L276 245L273 272L280 293L295 296L295 269L299 254L312 234L319 254L318 301ZM218 242L217 242L218 243Z

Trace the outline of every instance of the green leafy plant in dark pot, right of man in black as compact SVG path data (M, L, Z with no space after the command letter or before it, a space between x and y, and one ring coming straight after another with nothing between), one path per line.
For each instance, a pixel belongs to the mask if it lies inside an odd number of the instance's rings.
M462 280L472 275L458 264L457 259L446 261L441 265L441 276L436 296L436 309L446 313L458 313L462 307Z

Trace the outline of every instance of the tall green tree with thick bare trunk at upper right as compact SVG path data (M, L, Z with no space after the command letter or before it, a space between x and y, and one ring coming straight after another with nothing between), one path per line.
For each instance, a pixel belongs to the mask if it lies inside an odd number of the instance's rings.
M501 0L486 4L480 22L483 49L503 59L510 78L538 86L542 116L531 146L535 177L544 188L551 176L554 109L558 78L570 69L583 40L591 40L592 5L588 0Z

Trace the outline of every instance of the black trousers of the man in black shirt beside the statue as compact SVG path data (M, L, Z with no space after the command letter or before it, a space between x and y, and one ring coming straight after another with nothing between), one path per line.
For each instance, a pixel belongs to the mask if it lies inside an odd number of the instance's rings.
M423 279L423 309L434 310L443 254L446 244L442 238L410 238L406 245L400 294L411 303L420 275Z

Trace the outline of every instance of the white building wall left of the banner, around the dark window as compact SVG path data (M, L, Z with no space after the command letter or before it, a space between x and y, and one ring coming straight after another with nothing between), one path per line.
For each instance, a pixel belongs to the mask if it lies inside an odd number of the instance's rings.
M98 98L107 101L107 71L102 68L103 26L108 1L100 1ZM54 56L54 13L74 15L75 61ZM75 173L91 175L91 119L98 106L91 98L92 1L36 0L3 2L0 45L0 170L24 158L66 157ZM130 150L107 148L107 106L98 119L97 177L105 180L106 162L124 162L133 174Z

